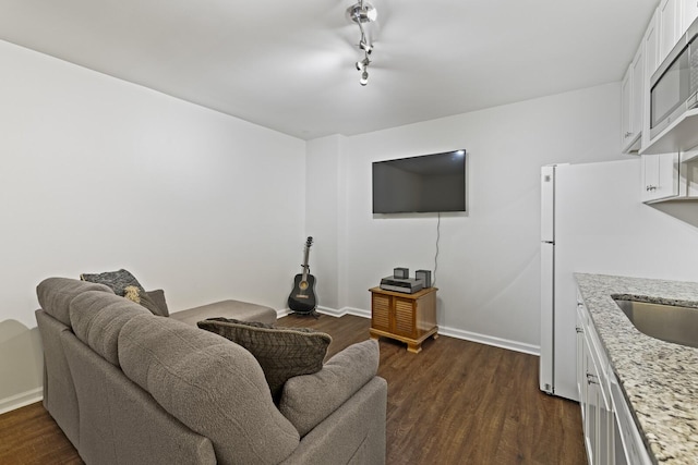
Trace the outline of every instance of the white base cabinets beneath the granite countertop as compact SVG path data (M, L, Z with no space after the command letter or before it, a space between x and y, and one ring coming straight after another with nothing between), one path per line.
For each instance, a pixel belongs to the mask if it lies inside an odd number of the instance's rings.
M651 464L591 316L579 294L577 388L589 464Z

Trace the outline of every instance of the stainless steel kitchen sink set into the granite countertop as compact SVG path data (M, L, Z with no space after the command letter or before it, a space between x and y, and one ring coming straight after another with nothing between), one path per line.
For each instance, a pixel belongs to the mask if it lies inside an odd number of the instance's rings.
M640 332L698 347L698 308L622 299L615 303Z

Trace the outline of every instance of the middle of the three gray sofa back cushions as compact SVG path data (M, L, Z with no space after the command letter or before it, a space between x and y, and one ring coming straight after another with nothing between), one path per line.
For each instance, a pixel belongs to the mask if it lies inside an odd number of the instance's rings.
M116 366L119 366L118 343L123 325L136 315L153 316L128 298L100 291L77 295L71 301L69 310L77 339Z

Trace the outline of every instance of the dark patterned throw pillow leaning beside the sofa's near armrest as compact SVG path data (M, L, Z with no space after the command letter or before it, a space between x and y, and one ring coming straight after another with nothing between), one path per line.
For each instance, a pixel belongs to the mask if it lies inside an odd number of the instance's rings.
M228 318L209 318L196 325L252 353L277 404L286 380L322 369L332 342L329 334L310 328L279 328Z

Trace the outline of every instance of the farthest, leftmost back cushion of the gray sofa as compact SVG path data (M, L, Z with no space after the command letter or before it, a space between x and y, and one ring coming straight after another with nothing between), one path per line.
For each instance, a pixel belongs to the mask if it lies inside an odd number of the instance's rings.
M36 286L36 296L47 314L70 327L69 304L75 296L87 291L113 294L113 291L104 284L70 278L47 278Z

